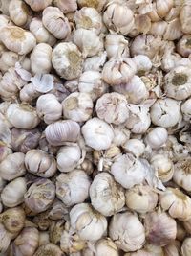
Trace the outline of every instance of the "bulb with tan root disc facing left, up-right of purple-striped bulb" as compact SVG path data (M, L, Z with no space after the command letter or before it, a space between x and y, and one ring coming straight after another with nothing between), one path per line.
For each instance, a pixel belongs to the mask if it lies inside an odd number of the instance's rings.
M88 93L74 92L62 102L63 115L75 122L84 122L91 118L93 106Z

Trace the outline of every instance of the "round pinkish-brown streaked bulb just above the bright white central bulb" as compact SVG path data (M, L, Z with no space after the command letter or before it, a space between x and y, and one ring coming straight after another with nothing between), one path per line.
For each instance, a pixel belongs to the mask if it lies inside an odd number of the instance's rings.
M96 114L108 124L120 125L129 117L125 96L117 93L105 93L96 101Z

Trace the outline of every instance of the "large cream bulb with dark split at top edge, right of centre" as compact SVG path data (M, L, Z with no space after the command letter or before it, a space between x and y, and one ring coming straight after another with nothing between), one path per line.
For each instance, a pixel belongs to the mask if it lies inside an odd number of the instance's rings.
M123 2L109 2L103 13L103 21L109 31L127 35L134 27L134 12Z

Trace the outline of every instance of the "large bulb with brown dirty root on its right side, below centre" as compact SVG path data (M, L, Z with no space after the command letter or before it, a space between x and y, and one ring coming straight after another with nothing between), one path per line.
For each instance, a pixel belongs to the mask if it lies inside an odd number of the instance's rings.
M93 207L104 216L116 214L125 204L123 188L112 175L96 175L90 186L90 198Z

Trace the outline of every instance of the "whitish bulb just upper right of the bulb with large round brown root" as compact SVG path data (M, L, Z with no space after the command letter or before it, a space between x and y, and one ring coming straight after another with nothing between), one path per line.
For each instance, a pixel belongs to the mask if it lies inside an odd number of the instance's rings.
M101 37L92 30L77 29L74 31L73 41L84 58L96 56L103 50Z

